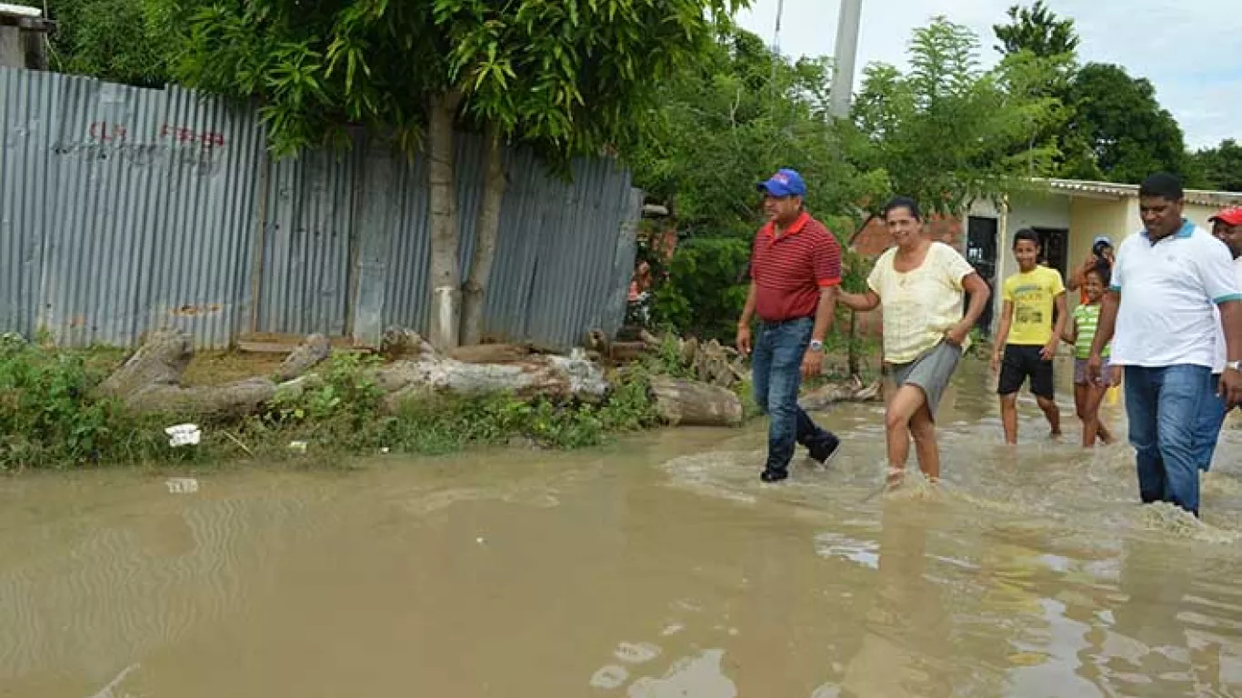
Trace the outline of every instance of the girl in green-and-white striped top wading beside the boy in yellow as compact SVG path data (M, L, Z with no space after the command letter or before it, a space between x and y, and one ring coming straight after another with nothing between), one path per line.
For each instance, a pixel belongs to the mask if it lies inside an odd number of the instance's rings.
M1074 406L1078 409L1078 419L1083 422L1083 448L1094 446L1097 437L1104 443L1113 442L1113 433L1099 421L1099 404L1108 389L1117 385L1117 379L1120 378L1117 366L1108 365L1108 347L1102 351L1105 363L1099 381L1092 381L1087 375L1090 343L1095 339L1095 328L1099 325L1099 301L1108 288L1109 276L1112 276L1109 268L1103 263L1083 276L1087 302L1074 308L1073 322L1066 323L1066 330L1061 337L1074 345Z

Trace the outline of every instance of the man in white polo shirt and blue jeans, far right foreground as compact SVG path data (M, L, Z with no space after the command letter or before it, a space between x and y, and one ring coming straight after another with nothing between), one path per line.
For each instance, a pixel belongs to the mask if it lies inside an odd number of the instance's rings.
M1109 360L1125 368L1139 496L1197 517L1203 401L1217 392L1226 407L1242 402L1242 289L1228 248L1182 217L1184 202L1172 175L1154 174L1139 188L1145 230L1117 252L1087 371L1099 376L1100 350L1112 340ZM1217 325L1228 359L1220 381L1212 376Z

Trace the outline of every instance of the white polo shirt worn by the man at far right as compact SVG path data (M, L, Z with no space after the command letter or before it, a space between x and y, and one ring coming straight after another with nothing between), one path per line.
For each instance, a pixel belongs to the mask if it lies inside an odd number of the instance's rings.
M1146 231L1122 242L1112 288L1122 296L1109 359L1117 365L1213 368L1216 306L1242 301L1228 247L1190 221L1155 243Z

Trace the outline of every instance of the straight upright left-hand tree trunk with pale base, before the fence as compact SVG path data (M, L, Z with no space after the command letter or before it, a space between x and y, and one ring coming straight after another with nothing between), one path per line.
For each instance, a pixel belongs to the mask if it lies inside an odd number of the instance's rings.
M427 186L431 193L431 322L427 339L441 351L458 344L461 273L457 246L457 186L453 116L461 94L432 97L427 106Z

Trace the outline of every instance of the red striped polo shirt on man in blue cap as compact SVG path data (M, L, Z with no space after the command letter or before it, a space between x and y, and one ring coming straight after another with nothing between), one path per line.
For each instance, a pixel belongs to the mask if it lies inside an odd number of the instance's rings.
M823 224L802 212L776 235L769 222L750 255L755 313L769 323L815 317L820 289L841 283L841 245Z

